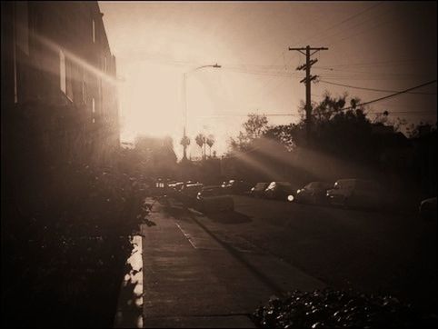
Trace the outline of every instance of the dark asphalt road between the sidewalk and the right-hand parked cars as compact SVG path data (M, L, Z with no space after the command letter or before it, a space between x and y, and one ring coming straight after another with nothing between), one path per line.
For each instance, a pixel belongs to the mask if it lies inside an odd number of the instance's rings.
M436 223L239 195L234 207L196 220L218 239L254 245L328 286L436 308Z

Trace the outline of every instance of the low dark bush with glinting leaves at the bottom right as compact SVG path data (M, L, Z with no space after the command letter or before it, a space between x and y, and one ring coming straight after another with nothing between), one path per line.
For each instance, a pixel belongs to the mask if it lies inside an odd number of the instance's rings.
M293 291L272 297L253 314L262 328L413 328L436 325L432 315L423 317L410 305L391 295L358 294L326 288Z

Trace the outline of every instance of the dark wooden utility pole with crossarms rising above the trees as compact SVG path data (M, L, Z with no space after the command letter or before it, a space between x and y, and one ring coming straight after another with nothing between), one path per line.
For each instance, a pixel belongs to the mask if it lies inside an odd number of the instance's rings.
M307 143L310 142L310 132L311 132L311 126L312 126L312 98L311 98L311 91L310 91L310 83L314 81L318 75L311 75L310 74L310 68L312 65L314 65L316 62L318 62L317 59L310 59L312 55L319 52L320 50L328 50L326 47L318 47L313 48L310 45L307 45L306 47L301 48L291 48L289 47L289 50L296 50L303 54L305 56L305 64L300 65L296 68L296 70L305 70L305 77L303 80L300 81L300 83L305 84L305 128L306 128L306 134L307 134ZM305 53L304 53L305 51ZM311 53L312 51L312 53Z

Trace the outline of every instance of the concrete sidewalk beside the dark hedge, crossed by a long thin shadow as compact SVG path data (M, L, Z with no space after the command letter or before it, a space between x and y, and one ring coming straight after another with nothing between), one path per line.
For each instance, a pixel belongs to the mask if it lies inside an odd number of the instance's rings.
M251 328L249 315L273 294L324 287L272 255L234 248L196 218L166 214L163 204L148 219L144 327Z

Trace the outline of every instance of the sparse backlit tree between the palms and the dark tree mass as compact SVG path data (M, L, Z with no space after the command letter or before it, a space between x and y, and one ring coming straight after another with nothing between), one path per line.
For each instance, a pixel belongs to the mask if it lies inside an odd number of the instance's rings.
M254 140L262 137L269 129L266 115L249 114L248 119L243 124L244 131L229 140L232 151L247 151L251 148Z

